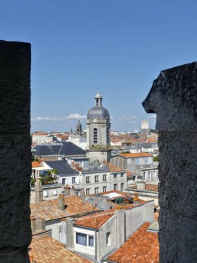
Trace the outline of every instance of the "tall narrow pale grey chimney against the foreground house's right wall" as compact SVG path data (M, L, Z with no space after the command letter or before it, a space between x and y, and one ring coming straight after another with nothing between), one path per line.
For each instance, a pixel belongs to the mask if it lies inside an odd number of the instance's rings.
M120 248L125 241L124 208L116 208L116 247Z

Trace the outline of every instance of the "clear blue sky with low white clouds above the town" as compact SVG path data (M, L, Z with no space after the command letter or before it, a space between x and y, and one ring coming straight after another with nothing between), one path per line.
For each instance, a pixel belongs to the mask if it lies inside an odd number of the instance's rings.
M196 60L194 0L5 0L1 39L32 44L32 131L86 128L97 85L111 129L154 128L142 101L162 69Z

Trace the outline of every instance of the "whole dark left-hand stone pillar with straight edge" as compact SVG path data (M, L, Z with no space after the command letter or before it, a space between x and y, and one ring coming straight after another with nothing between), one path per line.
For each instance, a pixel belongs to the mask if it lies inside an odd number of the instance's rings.
M0 41L0 262L27 262L30 229L30 44Z

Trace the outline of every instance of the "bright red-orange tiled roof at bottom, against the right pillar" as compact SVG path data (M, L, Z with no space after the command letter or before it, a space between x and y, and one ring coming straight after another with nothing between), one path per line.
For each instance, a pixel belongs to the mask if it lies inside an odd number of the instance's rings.
M107 260L117 263L156 263L159 262L158 233L147 231L150 223L144 223L135 230L124 245Z

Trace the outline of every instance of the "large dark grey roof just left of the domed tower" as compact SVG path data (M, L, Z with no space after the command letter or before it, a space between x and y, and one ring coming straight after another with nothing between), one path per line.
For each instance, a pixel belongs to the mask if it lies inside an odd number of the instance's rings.
M77 155L86 155L84 149L78 147L71 142L59 142L56 140L54 143L46 143L43 145L37 145L34 147L36 151L34 152L35 156L50 156L50 155L64 155L64 156L77 156Z

